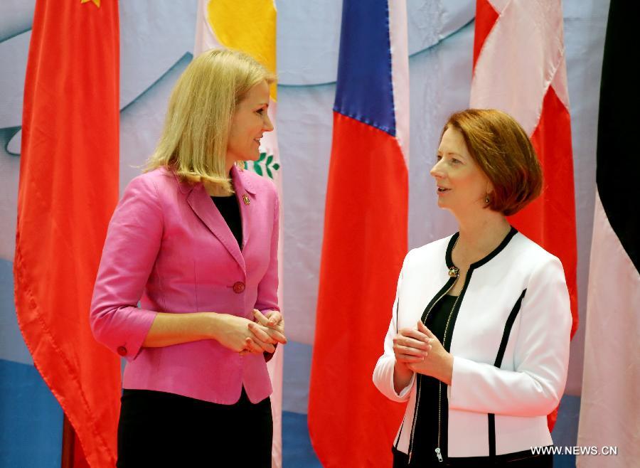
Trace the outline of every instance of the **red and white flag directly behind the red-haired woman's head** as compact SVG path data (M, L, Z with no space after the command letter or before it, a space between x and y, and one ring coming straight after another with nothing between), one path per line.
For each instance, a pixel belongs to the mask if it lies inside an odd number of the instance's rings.
M510 222L560 258L577 329L575 194L560 0L477 0L471 107L512 115L543 166L543 193ZM556 411L548 417L555 424Z

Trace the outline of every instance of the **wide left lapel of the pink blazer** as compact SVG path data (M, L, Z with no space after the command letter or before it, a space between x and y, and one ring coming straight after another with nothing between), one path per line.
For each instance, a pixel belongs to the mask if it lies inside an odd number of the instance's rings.
M191 206L191 209L196 216L201 219L201 221L206 225L206 227L215 235L218 240L227 248L229 253L235 258L235 261L238 262L238 265L242 267L242 271L246 272L247 268L245 265L245 258L242 257L242 252L240 252L240 246L238 242L233 237L233 233L229 229L225 219L220 214L217 208L215 208L215 204L211 200L211 197L207 193L203 184L197 184L193 187L193 190L187 196L187 203ZM242 208L240 208L240 213L242 213ZM245 223L245 217L242 216L242 224ZM242 228L244 230L244 227ZM243 234L244 235L244 234ZM245 242L243 242L245 243Z

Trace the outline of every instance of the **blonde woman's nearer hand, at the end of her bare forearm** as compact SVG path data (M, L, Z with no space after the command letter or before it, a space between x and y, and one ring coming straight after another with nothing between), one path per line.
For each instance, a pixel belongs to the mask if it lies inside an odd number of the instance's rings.
M231 314L215 314L214 317L216 324L213 338L228 349L237 353L262 353L263 351L273 353L275 351L274 340L265 330L258 329L257 333L252 331L250 324L252 328L257 324L249 319ZM257 327L265 328L260 325Z

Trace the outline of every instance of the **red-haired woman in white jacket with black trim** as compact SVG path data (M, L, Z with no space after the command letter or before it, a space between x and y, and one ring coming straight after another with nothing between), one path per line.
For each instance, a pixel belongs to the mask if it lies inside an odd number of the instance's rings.
M569 361L562 264L509 225L540 193L522 127L498 110L457 112L431 169L454 235L405 257L378 389L407 402L393 467L550 467L547 415Z

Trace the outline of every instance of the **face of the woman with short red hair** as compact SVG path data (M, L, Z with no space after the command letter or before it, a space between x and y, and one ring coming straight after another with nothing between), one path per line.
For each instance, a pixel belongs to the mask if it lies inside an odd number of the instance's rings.
M491 182L469 154L458 129L448 127L442 135L431 175L440 208L462 214L486 205L484 198L491 193Z

